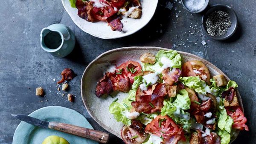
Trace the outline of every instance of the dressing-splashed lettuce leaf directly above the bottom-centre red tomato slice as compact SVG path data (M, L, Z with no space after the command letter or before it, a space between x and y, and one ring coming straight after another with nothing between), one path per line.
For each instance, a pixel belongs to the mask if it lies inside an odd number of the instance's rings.
M169 101L165 100L163 105L161 115L169 115L177 124L182 125L185 131L189 131L192 121L189 112L184 111L189 109L190 106L188 92L185 89L180 90L175 101L171 98Z

